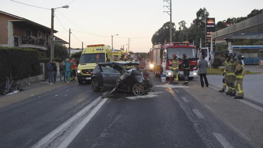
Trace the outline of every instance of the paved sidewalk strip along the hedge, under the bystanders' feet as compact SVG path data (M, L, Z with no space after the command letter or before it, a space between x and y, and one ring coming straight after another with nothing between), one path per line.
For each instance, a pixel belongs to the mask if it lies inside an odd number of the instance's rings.
M66 83L60 81L59 78L56 79L56 83L54 83L53 85L49 85L47 84L47 82L48 81L39 81L31 83L31 85L26 84L25 86L22 86L22 89L24 89L24 91L20 91L16 94L0 95L0 108L28 97L37 96L38 94L44 93L46 91L78 84L77 80Z

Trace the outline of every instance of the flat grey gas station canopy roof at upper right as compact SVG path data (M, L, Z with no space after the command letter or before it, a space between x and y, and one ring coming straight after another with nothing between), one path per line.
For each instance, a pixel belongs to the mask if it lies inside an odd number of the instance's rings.
M212 33L213 39L263 39L263 13Z

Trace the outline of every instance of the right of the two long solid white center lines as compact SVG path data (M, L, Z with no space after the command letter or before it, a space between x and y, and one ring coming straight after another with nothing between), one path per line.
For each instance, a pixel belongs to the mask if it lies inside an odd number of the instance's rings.
M91 118L96 114L96 112L100 109L100 107L108 100L108 98L104 98L95 108L91 111L91 113L81 122L79 125L71 132L70 135L58 146L58 148L67 147L71 141L78 135L78 133L83 129L83 127L91 120Z

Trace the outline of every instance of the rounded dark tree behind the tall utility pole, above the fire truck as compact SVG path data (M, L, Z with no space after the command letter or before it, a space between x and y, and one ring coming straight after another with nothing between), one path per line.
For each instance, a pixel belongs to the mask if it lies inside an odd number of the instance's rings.
M172 23L172 33L175 33L175 23ZM156 31L152 36L152 44L155 45L155 43L161 43L164 44L165 39L169 41L170 39L170 22L166 22L163 24L163 26ZM172 40L174 41L175 34L172 34Z

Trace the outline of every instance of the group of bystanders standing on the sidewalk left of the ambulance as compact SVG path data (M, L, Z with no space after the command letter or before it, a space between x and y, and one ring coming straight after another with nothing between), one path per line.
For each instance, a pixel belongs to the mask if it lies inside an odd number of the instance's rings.
M56 82L56 76L58 72L60 81L67 83L69 83L69 81L75 81L76 63L74 58L71 61L69 61L69 59L65 59L65 61L60 60L60 62L56 62L55 59L53 59L50 60L46 66L48 71L49 85L52 85ZM62 77L64 77L64 80L62 80Z

